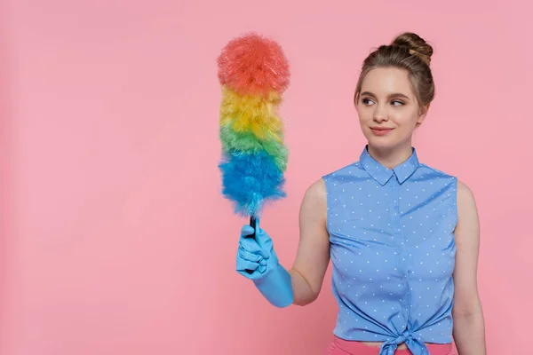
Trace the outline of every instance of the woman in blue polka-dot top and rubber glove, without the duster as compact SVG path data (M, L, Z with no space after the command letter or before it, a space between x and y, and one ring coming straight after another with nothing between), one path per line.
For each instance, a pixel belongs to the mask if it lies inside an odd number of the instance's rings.
M413 33L370 53L354 105L368 144L311 185L289 271L244 225L237 272L277 307L312 303L331 260L338 320L328 354L485 354L473 193L411 146L434 99L432 47Z

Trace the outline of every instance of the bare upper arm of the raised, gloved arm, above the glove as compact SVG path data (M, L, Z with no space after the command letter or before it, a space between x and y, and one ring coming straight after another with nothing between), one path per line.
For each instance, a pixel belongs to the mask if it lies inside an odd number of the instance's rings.
M293 304L312 303L322 288L330 262L326 215L326 187L320 179L309 186L300 207L298 253L289 270L294 294Z

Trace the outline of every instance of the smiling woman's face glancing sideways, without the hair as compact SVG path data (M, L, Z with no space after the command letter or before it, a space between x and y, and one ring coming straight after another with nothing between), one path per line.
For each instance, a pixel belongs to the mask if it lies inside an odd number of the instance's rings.
M396 67L370 70L356 102L362 133L379 149L411 144L413 131L426 118L411 89L408 72Z

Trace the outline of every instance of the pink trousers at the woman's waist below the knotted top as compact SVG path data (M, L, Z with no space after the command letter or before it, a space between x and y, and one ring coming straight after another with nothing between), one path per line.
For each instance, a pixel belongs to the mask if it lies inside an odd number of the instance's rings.
M427 350L431 355L457 355L450 343L427 344ZM378 355L378 353L379 347L350 342L335 336L324 355ZM396 350L394 355L411 355L411 352L409 349Z

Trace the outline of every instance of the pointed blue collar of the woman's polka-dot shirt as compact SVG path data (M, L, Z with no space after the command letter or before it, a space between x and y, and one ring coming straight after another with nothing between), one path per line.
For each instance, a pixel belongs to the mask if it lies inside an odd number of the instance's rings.
M373 177L379 184L385 185L388 180L396 176L398 182L402 184L408 177L410 177L415 170L418 169L418 156L417 151L413 147L412 154L409 159L405 162L402 162L400 165L396 166L394 169L388 169L386 166L382 165L380 162L376 161L368 151L368 145L362 150L361 158L359 162L362 164L362 168L366 170L370 177Z

